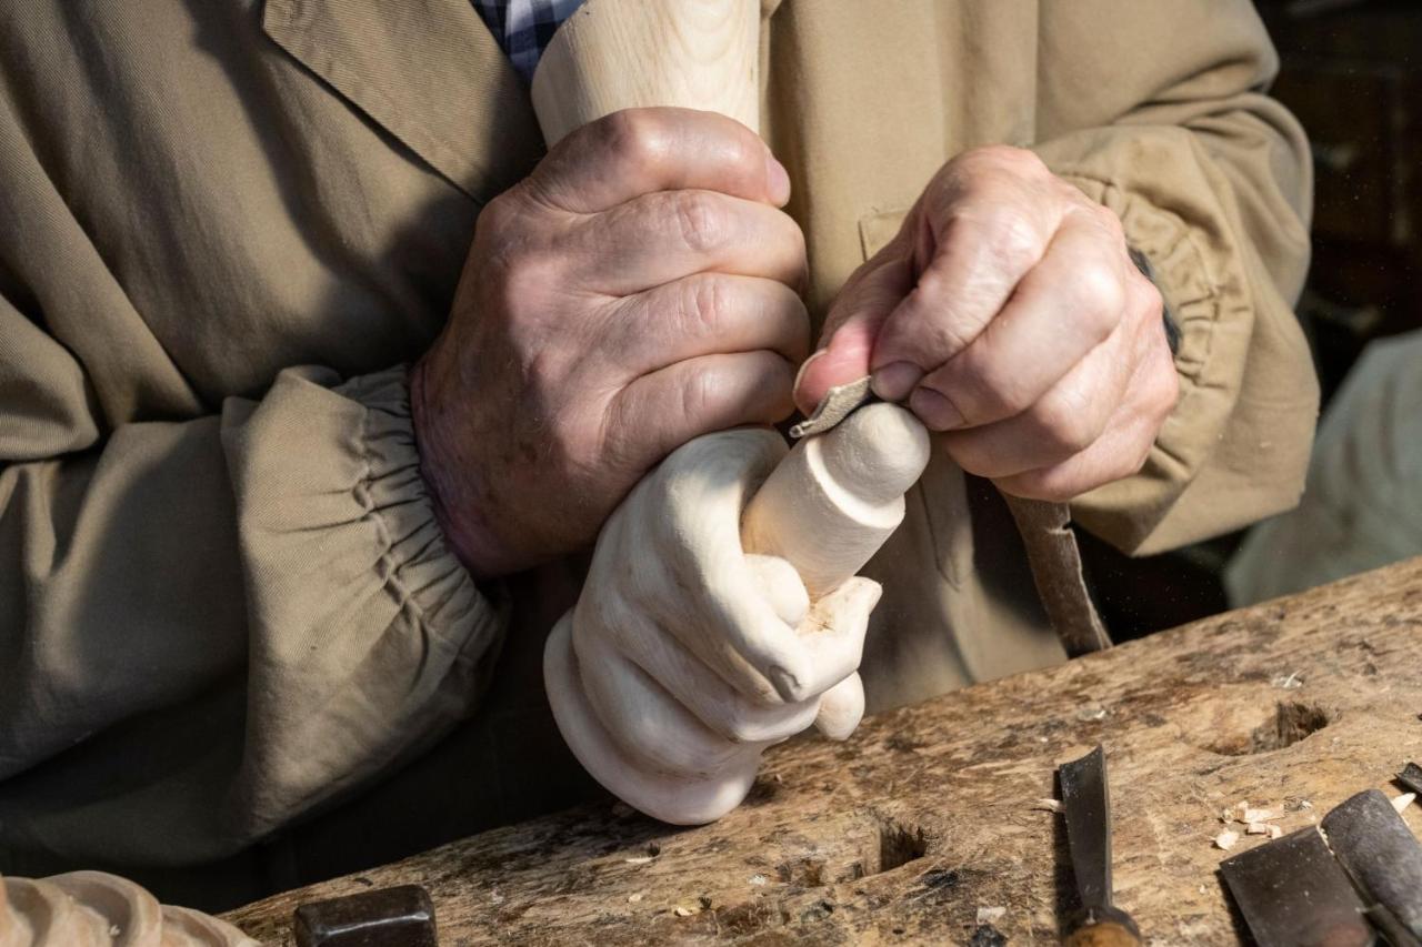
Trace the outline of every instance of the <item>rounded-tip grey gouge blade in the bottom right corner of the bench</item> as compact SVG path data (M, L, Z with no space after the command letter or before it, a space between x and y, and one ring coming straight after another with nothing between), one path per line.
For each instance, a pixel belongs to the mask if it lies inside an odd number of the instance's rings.
M1422 843L1378 789L1351 796L1322 820L1338 863L1394 947L1422 947Z

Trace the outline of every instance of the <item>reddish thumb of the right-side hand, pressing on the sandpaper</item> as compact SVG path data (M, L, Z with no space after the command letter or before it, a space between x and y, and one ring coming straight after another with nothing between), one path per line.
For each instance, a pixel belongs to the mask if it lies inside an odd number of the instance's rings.
M879 327L910 290L913 257L900 235L860 266L830 304L819 350L795 378L796 408L809 415L830 388L869 374Z

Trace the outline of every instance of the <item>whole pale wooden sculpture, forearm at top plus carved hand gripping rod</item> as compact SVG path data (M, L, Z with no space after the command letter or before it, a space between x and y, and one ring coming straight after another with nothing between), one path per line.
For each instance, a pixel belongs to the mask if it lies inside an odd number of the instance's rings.
M648 105L758 128L759 6L587 0L533 77L549 145ZM700 823L745 798L766 745L812 722L848 737L879 600L855 573L927 458L924 428L887 404L789 454L769 429L671 454L607 520L582 599L549 636L549 702L583 766L648 815Z

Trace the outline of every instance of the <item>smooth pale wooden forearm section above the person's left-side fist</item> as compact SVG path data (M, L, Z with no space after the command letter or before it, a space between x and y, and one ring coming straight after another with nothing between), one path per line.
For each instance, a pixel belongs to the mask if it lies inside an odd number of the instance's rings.
M759 0L589 0L533 73L543 139L623 108L680 105L759 129Z

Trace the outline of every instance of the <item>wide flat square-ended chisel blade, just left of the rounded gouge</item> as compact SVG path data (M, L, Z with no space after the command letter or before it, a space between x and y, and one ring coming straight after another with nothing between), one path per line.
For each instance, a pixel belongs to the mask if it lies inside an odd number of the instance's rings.
M1220 863L1258 947L1371 947L1364 904L1317 828Z

